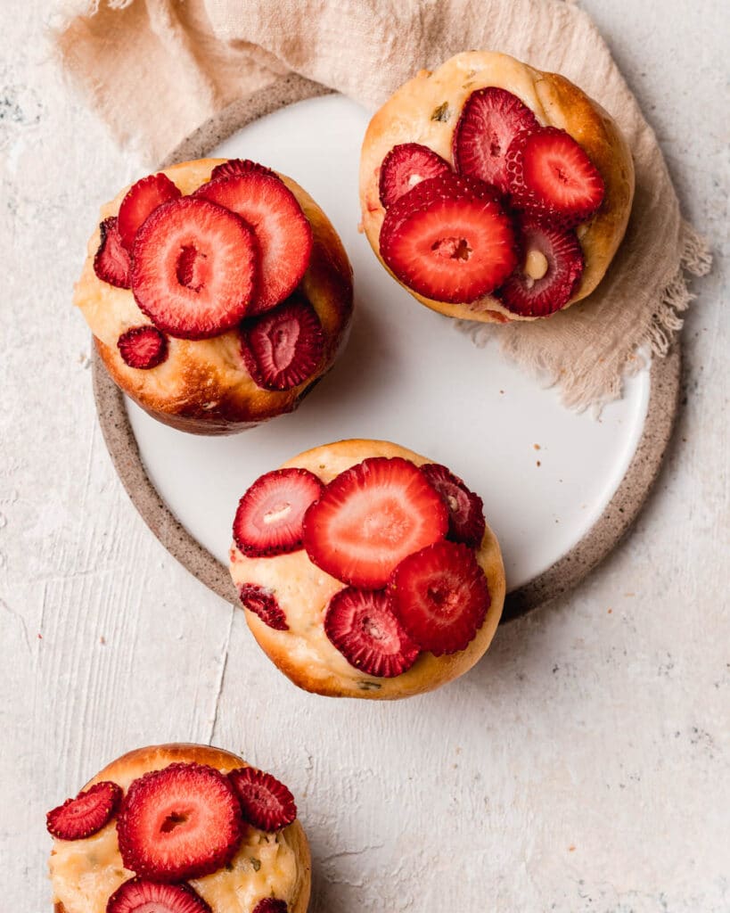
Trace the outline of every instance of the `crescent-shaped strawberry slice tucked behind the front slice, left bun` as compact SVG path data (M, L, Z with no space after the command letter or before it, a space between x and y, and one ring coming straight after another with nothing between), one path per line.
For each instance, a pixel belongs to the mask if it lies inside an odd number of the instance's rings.
M203 184L195 196L225 206L254 230L260 273L248 315L261 314L288 298L307 272L312 228L286 184L269 174L249 171Z

